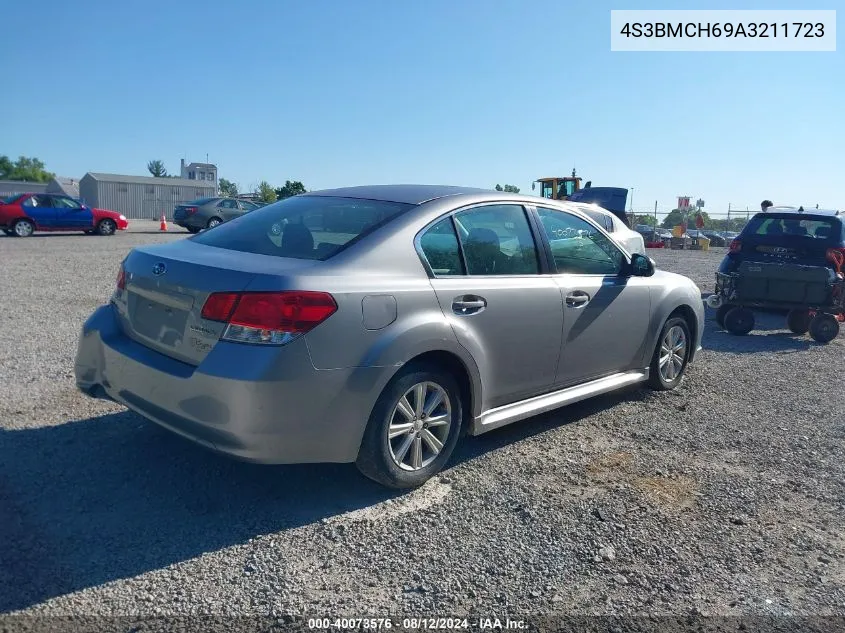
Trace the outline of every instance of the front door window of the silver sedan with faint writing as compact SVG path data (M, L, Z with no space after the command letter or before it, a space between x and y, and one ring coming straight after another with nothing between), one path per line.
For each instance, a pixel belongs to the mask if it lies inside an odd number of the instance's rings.
M538 208L558 273L618 275L625 255L589 222L556 209Z

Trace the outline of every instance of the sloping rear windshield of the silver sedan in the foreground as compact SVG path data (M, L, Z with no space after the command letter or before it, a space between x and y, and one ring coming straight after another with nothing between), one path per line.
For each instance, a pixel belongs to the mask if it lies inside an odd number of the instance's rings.
M244 253L325 260L412 206L357 198L294 196L189 239Z

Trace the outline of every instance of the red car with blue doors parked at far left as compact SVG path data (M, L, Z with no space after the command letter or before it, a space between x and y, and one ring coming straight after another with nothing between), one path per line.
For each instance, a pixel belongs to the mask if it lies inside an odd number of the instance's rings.
M114 235L128 226L117 211L93 209L65 195L19 193L0 201L0 230L13 237L29 237L36 231Z

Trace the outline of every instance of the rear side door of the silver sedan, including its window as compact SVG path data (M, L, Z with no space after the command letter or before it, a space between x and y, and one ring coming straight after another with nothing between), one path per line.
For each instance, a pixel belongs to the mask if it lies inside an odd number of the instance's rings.
M443 313L475 359L485 409L551 389L560 351L560 288L541 274L526 210L489 204L456 212L420 238Z

